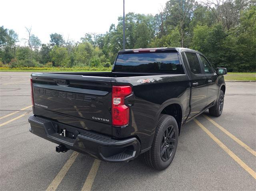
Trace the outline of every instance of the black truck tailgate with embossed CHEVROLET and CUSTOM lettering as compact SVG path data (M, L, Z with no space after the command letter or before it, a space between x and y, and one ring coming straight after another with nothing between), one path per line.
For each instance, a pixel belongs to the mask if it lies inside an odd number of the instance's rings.
M33 73L34 114L112 135L109 77Z

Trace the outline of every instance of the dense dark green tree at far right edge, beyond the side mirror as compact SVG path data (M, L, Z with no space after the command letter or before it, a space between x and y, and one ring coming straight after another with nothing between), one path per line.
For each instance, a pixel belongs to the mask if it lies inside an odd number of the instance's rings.
M229 71L256 71L256 6L242 11L240 25L231 29L224 41L226 66Z

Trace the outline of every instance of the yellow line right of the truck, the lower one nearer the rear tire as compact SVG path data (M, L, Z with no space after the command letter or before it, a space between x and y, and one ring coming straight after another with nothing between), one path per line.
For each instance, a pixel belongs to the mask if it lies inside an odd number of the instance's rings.
M244 163L238 156L236 156L229 148L226 147L216 136L214 136L208 129L206 129L198 120L194 119L194 122L200 126L200 128L214 140L218 146L220 146L229 156L234 159L241 167L243 167L254 179L256 179L256 172L253 171L246 163Z

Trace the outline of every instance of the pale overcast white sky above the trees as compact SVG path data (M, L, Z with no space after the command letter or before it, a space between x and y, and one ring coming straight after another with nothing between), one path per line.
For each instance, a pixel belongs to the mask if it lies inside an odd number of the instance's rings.
M167 0L125 0L125 12L159 13ZM13 29L22 38L25 27L32 28L42 43L49 43L51 33L80 41L85 33L105 33L123 14L123 0L2 0L0 26Z

